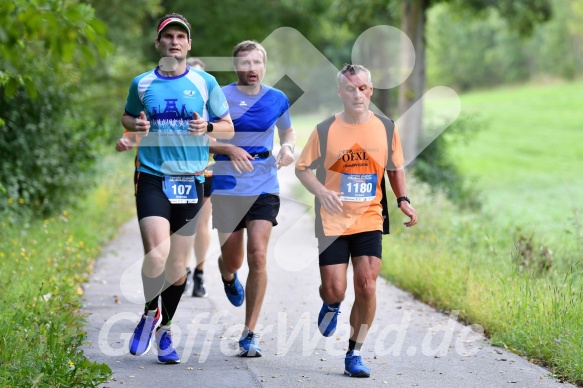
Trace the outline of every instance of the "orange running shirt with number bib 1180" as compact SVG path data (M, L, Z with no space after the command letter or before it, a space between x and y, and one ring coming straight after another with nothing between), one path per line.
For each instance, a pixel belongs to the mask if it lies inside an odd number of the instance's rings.
M395 126L391 151L382 121L372 112L368 121L348 124L335 116L328 131L323 167L324 186L342 192L342 213L331 215L320 209L326 236L342 236L383 230L381 179L391 157L392 165L404 165L399 131ZM320 157L320 140L314 129L296 163L305 170ZM322 167L320 167L322 168Z

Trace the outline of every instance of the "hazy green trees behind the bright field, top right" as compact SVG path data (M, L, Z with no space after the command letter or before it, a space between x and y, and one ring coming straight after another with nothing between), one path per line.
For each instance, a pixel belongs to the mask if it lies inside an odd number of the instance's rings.
M552 2L552 17L546 20L542 11L535 12L530 17L536 23L526 30L505 13L510 4L475 14L456 2L432 7L427 23L428 83L467 90L549 75L574 79L583 71L583 30L577 27L583 25L583 8L578 11L578 4Z

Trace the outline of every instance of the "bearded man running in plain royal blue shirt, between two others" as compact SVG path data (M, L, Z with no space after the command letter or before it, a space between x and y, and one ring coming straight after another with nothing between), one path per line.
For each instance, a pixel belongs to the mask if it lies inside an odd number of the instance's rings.
M211 147L217 161L213 227L219 231L219 269L227 297L235 306L247 301L239 355L259 357L261 348L254 330L267 287L267 244L279 212L277 170L294 160L295 132L285 94L261 83L267 62L263 46L255 41L241 42L233 49L233 61L238 81L223 91L235 136ZM272 155L275 127L281 144L277 156ZM245 254L244 229L249 265L245 288L237 277Z

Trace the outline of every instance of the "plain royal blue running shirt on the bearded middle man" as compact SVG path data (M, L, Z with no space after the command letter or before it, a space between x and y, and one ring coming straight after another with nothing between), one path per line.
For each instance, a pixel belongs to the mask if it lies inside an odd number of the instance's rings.
M256 95L242 93L235 83L223 87L229 103L235 136L219 140L244 148L251 155L271 152L275 127L286 130L291 127L289 100L275 88L261 85ZM213 195L254 196L279 194L275 156L251 161L253 171L237 173L229 158L215 155L213 169Z

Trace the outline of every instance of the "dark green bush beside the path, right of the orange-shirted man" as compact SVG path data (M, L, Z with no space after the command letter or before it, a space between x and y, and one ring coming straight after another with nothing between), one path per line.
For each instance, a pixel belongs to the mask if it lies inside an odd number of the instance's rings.
M428 124L443 128L438 122ZM431 142L417 156L413 174L422 182L428 183L433 190L443 191L448 198L462 208L479 210L480 193L471 179L463 175L456 160L448 153L452 144L467 143L485 123L472 116L460 116L440 136ZM425 133L433 131L426 128Z

